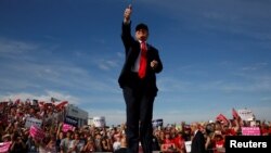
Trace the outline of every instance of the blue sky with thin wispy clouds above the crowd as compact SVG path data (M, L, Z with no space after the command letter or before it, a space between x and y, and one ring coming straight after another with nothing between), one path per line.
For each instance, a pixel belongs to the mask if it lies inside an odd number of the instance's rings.
M131 1L132 29L149 25L164 64L154 119L247 107L271 120L270 0L0 0L0 99L54 97L124 123L120 25Z

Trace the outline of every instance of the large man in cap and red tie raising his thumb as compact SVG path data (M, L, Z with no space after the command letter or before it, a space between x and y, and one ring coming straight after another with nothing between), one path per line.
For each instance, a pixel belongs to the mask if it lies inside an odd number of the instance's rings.
M151 153L153 103L158 91L155 74L162 72L163 65L158 50L146 42L145 24L136 27L136 39L131 36L130 15L131 5L124 13L121 40L126 60L118 78L126 102L127 149L129 153L138 153L141 142L143 152Z

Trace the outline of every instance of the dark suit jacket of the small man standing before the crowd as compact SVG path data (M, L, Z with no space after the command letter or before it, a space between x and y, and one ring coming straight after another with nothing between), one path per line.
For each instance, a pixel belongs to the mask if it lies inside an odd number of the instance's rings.
M191 144L191 153L206 153L205 138L202 131L197 131Z

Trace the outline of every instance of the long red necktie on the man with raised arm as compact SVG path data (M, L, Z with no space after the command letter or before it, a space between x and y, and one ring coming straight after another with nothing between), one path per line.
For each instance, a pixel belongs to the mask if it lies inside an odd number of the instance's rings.
M143 78L146 73L146 42L141 42L141 56L140 56L140 65L139 65L139 77Z

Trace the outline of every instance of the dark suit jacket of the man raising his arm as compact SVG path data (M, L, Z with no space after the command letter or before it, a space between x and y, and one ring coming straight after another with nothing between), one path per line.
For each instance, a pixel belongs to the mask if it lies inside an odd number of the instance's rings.
M134 80L132 78L131 69L134 66L136 60L138 59L140 53L140 42L131 36L131 22L130 24L122 23L121 29L122 29L121 39L125 46L126 60L124 63L122 71L118 78L118 84L121 88L124 88L125 86L128 87L133 86ZM146 46L147 46L147 68L144 82L146 84L147 91L151 94L156 95L158 89L156 86L155 74L162 72L163 64L158 54L158 50L149 43ZM153 69L150 66L153 60L156 60L158 62L158 65L155 69Z

